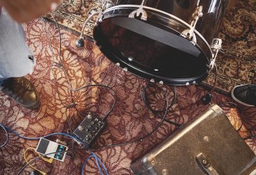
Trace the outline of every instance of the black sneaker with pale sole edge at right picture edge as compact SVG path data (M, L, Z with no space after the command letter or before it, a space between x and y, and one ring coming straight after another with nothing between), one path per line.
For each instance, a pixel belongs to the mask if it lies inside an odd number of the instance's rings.
M256 85L237 85L232 89L232 98L245 106L256 106Z

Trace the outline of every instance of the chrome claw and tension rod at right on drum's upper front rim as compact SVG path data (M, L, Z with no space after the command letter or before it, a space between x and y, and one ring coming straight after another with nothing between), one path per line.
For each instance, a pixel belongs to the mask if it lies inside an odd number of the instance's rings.
M181 33L181 36L184 38L187 38L191 40L192 44L197 44L197 38L195 36L195 26L197 25L197 21L199 20L199 17L203 16L203 6L197 6L195 9L195 12L192 15L192 22L190 24L190 29L184 30Z

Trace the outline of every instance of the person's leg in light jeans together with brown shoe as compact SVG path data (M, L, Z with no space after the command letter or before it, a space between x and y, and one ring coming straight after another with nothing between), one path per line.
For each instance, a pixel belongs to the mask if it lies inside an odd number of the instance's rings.
M20 24L0 12L0 90L26 108L38 108L40 99L24 75L32 73L35 59L26 45Z

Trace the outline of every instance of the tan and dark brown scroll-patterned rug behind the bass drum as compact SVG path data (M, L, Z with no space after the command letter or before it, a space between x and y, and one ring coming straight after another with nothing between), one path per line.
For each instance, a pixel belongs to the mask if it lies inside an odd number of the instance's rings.
M79 34L88 15L100 9L100 1L64 0L55 11L57 22ZM218 83L220 92L228 94L236 85L256 83L256 2L230 1L218 35L223 40L223 50L218 55ZM53 20L50 15L47 18ZM96 19L96 18L95 18ZM95 20L94 19L94 20ZM94 20L86 26L85 34L92 37ZM203 81L213 85L214 73Z

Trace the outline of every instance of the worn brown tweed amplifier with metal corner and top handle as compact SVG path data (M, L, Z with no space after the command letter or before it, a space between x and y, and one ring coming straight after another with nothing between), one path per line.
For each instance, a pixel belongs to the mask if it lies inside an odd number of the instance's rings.
M133 174L251 174L256 157L212 105L131 164Z

